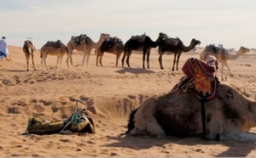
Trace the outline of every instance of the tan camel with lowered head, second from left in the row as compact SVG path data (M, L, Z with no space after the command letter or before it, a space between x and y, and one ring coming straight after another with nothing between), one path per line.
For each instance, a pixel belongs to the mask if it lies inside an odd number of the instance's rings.
M59 60L61 59L60 66L62 63L62 58L64 54L67 54L67 47L65 44L61 42L61 40L57 40L56 42L46 42L44 46L40 50L41 52L41 65L44 70L44 66L47 69L46 65L46 57L47 55L57 55L57 65L56 68L58 68ZM44 62L44 66L43 66Z

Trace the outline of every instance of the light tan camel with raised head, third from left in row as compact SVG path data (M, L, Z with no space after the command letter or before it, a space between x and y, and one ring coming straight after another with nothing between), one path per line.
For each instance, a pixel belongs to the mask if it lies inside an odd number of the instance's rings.
M73 50L82 51L84 52L84 57L82 60L82 67L84 66L84 60L86 57L86 65L89 64L89 57L90 57L90 51L93 48L100 48L102 46L102 42L105 38L110 37L108 34L102 33L100 36L100 39L98 42L93 42L90 37L87 37L86 35L81 35L79 37L79 40L77 37L71 37L71 40L67 42L67 49L68 49L68 55L67 55L67 67L68 67L68 60L70 60L71 65L73 66Z

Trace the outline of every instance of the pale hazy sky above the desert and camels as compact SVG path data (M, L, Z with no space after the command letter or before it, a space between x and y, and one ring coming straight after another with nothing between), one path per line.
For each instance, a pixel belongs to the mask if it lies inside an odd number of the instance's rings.
M195 38L200 47L256 48L255 0L1 0L0 19L8 45L31 39L37 49L81 34L126 42L143 33L155 41L160 32L186 46Z

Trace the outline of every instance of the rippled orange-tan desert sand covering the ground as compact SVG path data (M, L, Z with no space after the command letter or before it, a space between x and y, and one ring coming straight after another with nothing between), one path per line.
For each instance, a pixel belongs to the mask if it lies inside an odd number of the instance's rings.
M115 67L115 56L104 54L104 67L96 67L90 54L89 66L81 67L82 53L73 54L75 67L55 69L56 56L48 56L48 70L42 70L40 53L35 52L37 71L26 71L21 47L9 46L11 61L0 59L0 156L256 156L254 142L234 140L206 141L202 138L132 137L122 133L131 113L151 95L168 93L183 76L181 68L191 58L199 58L202 48L183 53L179 71L171 71L173 54L159 55L153 49L150 69L143 69L143 54L131 54L131 68ZM224 81L250 99L256 99L256 54L243 54L230 60L231 75ZM226 70L226 68L225 68ZM224 71L226 72L226 71ZM218 74L220 78L220 73ZM49 120L65 119L72 114L71 97L82 99L96 123L96 134L21 135L33 116ZM252 132L256 133L256 129Z

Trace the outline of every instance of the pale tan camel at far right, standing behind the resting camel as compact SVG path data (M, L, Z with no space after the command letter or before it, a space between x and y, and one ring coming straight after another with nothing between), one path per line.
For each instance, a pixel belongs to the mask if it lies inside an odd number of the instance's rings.
M250 49L241 46L241 48L239 48L237 54L233 55L233 54L230 54L228 52L228 50L225 48L218 48L218 47L215 47L214 45L208 45L206 48L204 48L204 50L200 54L200 59L205 61L207 59L207 56L209 56L209 55L215 56L215 58L218 59L218 62L222 63L222 65L221 65L221 80L224 81L224 79L227 80L228 76L230 75L230 71L231 71L230 66L227 63L228 59L232 59L232 60L238 59L242 54L245 54L247 52L250 52ZM224 74L224 66L226 66L228 68L228 71L227 71L227 74L225 77L223 75Z

